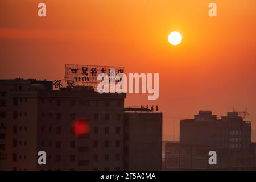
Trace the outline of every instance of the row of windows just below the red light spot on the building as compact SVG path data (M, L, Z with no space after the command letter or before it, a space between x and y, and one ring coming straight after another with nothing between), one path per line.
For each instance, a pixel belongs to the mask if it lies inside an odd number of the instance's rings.
M20 141L21 142L21 141ZM25 141L26 142L26 141ZM41 142L41 146L44 146L44 141ZM21 145L21 143L20 143ZM27 145L27 142L26 144ZM17 141L14 141L14 147L17 146ZM52 146L52 141L49 141L49 146ZM61 141L55 141L55 147L56 148L61 148ZM75 141L71 141L69 144L70 148L75 148ZM99 147L99 142L98 140L94 140L93 141L93 147L94 148L98 148ZM104 147L109 148L110 147L110 141L109 140L105 140L104 141ZM115 140L115 147L121 147L121 141L120 140ZM85 147L78 147L78 151L79 152L88 152L89 151L89 147L85 146Z

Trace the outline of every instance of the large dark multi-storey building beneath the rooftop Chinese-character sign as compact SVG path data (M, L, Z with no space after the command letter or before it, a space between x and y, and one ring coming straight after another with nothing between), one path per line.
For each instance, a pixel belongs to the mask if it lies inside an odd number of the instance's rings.
M123 169L125 94L100 94L86 87L53 91L44 86L47 81L39 85L30 80L2 80L0 85L1 93L5 92L1 156L6 154L0 169ZM82 137L73 132L79 119L90 126ZM38 164L38 151L46 152L46 165Z

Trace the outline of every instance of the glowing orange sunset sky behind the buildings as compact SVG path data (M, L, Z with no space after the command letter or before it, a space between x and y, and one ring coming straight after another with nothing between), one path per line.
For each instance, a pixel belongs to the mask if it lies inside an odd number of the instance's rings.
M38 17L38 3L47 17ZM217 17L208 16L210 2ZM64 80L65 64L159 73L159 99L127 94L126 106L158 105L163 140L199 110L244 110L256 140L255 0L0 0L0 79ZM168 43L171 31L183 42Z

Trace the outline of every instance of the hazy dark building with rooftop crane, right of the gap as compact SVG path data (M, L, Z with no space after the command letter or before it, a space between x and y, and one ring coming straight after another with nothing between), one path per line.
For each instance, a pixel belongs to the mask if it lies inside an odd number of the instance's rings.
M209 151L217 152L217 165L208 163ZM237 112L217 119L211 111L200 111L180 121L180 142L166 143L165 155L166 170L255 170L251 122Z

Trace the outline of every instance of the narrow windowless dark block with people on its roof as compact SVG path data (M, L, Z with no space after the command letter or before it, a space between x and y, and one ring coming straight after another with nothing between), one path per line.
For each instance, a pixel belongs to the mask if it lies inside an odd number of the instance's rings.
M162 113L125 109L124 169L162 169Z

